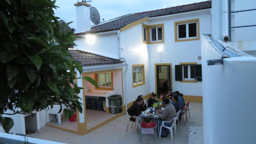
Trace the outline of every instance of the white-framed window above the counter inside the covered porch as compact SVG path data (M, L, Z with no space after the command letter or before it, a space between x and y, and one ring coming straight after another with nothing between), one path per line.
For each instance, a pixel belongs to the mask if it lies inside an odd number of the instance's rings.
M112 74L111 72L98 74L98 85L102 88L112 88Z

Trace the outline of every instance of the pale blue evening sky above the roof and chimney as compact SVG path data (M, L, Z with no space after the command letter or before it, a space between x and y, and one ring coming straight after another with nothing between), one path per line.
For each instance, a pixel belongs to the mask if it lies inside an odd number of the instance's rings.
M78 0L81 2L81 0ZM130 13L151 11L166 7L191 4L206 0L91 0L88 2L92 7L98 9L102 18L106 20L116 18ZM54 9L55 16L65 19L66 22L74 22L71 26L76 29L76 7L77 0L57 0L55 5L60 7ZM92 24L92 23L91 23ZM93 25L93 24L92 24Z

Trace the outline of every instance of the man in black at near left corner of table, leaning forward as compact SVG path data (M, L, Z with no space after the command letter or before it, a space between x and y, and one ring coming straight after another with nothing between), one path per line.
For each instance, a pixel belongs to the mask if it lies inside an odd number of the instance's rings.
M134 102L133 105L127 109L128 115L131 116L130 118L131 121L135 122L136 121L135 118L137 118L137 116L140 115L141 113L140 106L142 105L142 103L143 103L143 99L137 98L136 102Z

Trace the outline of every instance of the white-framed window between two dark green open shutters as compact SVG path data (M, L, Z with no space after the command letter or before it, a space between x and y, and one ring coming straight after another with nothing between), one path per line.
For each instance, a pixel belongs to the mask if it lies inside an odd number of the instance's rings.
M183 80L195 80L195 65L182 65Z

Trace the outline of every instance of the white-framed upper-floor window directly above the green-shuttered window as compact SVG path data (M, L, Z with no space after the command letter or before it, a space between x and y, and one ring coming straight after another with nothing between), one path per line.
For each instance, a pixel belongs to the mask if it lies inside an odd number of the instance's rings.
M177 24L177 39L193 39L198 37L197 22Z

